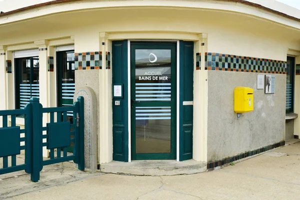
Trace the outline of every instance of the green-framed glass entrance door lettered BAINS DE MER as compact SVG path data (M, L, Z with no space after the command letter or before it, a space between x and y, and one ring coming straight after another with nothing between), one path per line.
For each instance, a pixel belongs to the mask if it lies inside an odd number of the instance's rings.
M131 159L176 158L176 43L131 42Z

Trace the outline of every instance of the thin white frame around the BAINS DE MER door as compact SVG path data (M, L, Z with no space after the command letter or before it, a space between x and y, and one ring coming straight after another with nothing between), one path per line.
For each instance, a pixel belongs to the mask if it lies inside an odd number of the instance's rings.
M179 40L150 40L150 39L128 39L128 71L127 83L131 88L131 60L130 60L130 41L152 41L152 42L176 42L176 161L179 161ZM131 92L128 89L128 162L131 162Z

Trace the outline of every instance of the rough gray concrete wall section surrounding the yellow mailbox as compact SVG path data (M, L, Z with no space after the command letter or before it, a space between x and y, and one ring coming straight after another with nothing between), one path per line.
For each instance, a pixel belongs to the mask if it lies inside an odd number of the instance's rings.
M216 161L284 140L285 81L275 75L275 93L256 89L257 73L208 70L207 161ZM254 110L234 112L234 88L254 89Z

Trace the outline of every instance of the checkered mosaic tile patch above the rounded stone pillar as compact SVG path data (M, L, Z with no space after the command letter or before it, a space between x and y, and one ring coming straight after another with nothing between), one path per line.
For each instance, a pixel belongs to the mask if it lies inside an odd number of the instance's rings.
M75 53L75 70L102 69L102 51Z

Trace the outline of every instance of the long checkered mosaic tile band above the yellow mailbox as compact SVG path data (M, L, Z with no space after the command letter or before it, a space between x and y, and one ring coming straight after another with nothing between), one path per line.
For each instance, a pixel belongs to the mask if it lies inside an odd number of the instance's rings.
M196 56L197 54L198 53L196 53ZM285 68L286 68L286 61L223 54L223 53L205 52L205 70L285 74L286 73Z

